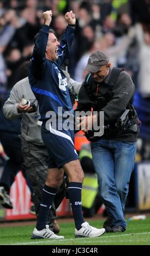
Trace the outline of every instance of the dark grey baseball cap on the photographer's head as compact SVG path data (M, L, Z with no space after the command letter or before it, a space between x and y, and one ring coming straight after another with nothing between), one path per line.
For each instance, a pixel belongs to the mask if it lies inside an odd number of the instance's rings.
M100 66L107 65L109 58L105 52L96 51L90 54L88 59L88 64L86 65L85 70L88 70L92 73L99 71Z

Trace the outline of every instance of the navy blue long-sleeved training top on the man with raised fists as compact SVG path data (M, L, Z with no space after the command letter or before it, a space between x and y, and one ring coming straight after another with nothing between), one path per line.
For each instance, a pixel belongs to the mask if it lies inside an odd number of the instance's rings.
M62 36L61 45L58 46L56 62L45 58L49 26L44 25L36 39L29 65L29 82L38 101L42 121L49 119L49 111L54 111L57 118L60 115L62 117L62 114L68 111L69 114L74 115L67 87L67 78L60 69L66 58L66 53L70 52L74 31L74 28L67 26ZM58 107L62 107L62 112L58 112ZM63 118L63 121L66 118Z

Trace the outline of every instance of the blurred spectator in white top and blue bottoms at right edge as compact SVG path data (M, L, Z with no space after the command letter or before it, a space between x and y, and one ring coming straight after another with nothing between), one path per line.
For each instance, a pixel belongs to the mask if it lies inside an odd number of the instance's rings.
M138 87L137 101L135 101L136 108L142 123L141 136L143 139L142 151L143 159L149 161L150 154L150 31L145 31L145 26L140 23L135 26L135 34L139 43L139 72L138 72ZM141 107L142 106L142 107Z

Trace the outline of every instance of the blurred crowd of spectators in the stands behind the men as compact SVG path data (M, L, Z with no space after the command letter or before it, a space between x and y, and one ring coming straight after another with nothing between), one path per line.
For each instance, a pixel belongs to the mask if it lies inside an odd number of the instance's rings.
M56 36L61 39L64 14L76 14L76 31L68 70L82 82L89 55L108 54L113 66L132 76L134 105L141 120L137 161L150 153L150 1L149 0L0 0L0 103L19 79L18 68L29 60L34 36L43 24L42 13L53 11Z

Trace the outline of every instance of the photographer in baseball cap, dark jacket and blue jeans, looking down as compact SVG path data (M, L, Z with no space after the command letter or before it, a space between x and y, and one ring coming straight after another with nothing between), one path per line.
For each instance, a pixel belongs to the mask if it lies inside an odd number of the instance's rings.
M99 191L108 214L103 227L107 232L122 232L127 227L123 212L139 133L139 119L132 106L135 88L125 71L111 68L104 52L92 53L86 70L90 73L80 89L76 111L93 108L98 114L80 118L78 126L91 141ZM100 111L104 113L104 134L94 137L94 130L88 131L88 127L101 123Z

